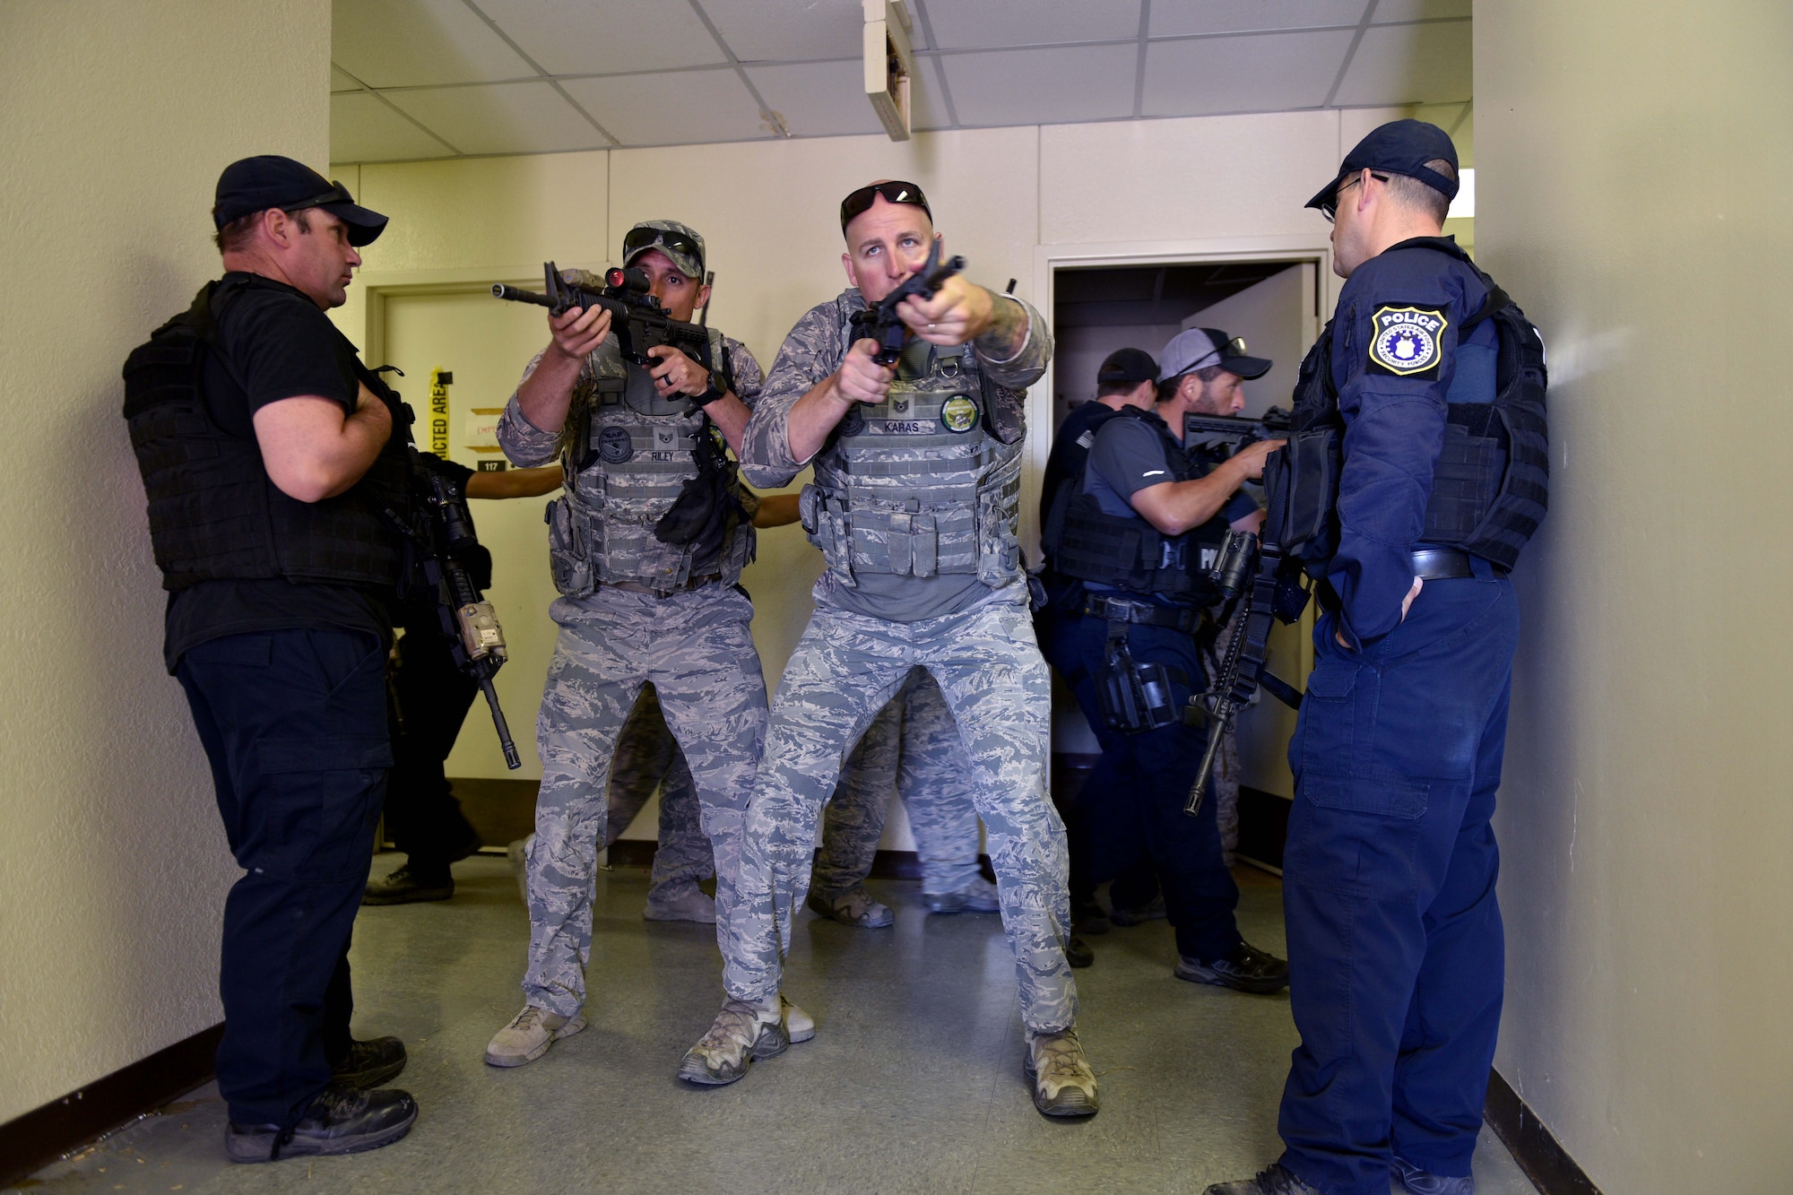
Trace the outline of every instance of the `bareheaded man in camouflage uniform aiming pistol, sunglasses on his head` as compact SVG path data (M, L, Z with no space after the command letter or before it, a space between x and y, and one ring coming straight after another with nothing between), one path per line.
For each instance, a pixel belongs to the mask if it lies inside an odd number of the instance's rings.
M940 682L975 777L1002 924L1015 949L1026 1073L1049 1116L1096 1112L1065 962L1065 827L1045 798L1045 660L1027 617L1017 502L1026 386L1051 359L1036 310L952 276L898 312L896 368L853 316L922 269L932 212L913 183L841 203L852 287L785 337L741 452L753 484L814 459L803 528L828 569L778 687L741 852L741 908L723 931L728 999L680 1077L741 1078L782 1053L778 980L809 888L816 815L841 757L922 666Z

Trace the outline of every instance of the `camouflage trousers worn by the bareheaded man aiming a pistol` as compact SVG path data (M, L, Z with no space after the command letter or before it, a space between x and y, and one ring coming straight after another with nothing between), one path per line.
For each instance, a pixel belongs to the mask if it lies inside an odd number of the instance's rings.
M940 682L970 761L972 795L990 836L1002 928L1015 951L1022 1019L1035 1034L1069 1028L1078 992L1065 824L1045 797L1051 687L1020 585L959 614L889 623L819 606L773 707L737 876L739 908L721 931L723 987L735 999L778 990L809 895L816 818L843 755L909 676Z

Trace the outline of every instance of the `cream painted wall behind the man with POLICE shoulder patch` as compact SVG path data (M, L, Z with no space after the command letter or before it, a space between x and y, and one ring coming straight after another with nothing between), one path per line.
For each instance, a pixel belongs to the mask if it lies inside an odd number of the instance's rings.
M1628 1195L1793 1173L1789 47L1782 0L1476 5L1477 251L1549 345L1555 474L1495 1062Z

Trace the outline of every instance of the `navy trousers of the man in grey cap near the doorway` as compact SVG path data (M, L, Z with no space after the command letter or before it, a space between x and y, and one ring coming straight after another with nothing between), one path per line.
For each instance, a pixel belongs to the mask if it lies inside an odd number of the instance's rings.
M1214 802L1201 802L1198 816L1183 813L1207 748L1207 730L1182 721L1142 734L1110 730L1096 700L1106 639L1106 621L1060 615L1051 626L1051 646L1042 641L1049 662L1056 664L1054 655L1065 660L1058 666L1060 675L1070 682L1103 746L1101 761L1065 815L1070 890L1090 892L1126 876L1142 888L1142 899L1151 899L1149 883L1137 883L1144 861L1164 890L1178 953L1212 962L1239 946L1234 920L1239 886L1221 859ZM1183 632L1130 626L1128 650L1140 664L1164 664L1185 676L1171 685L1178 711L1189 702L1191 687L1205 684L1194 639Z

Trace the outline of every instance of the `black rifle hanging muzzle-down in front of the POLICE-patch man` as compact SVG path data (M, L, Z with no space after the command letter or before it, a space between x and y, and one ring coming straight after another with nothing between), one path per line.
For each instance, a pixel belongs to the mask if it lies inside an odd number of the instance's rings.
M1280 565L1282 549L1277 544L1260 545L1250 531L1226 533L1226 545L1221 547L1219 562L1214 565L1214 580L1226 601L1244 594L1244 605L1221 653L1219 675L1207 693L1191 696L1183 709L1185 725L1208 727L1208 750L1201 755L1201 768L1196 770L1196 782L1191 784L1189 802L1183 806L1183 813L1191 816L1201 813L1201 798L1207 795L1208 777L1214 775L1214 759L1226 727L1252 702L1259 685L1289 709L1302 707L1302 694L1264 669L1269 660L1269 619L1293 623L1307 606L1307 590L1302 589L1298 574L1284 572ZM1246 589L1248 578L1252 578L1250 589Z

